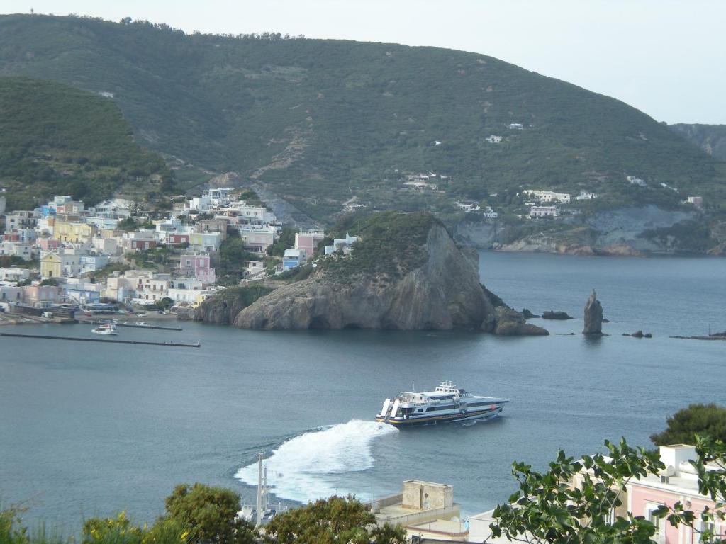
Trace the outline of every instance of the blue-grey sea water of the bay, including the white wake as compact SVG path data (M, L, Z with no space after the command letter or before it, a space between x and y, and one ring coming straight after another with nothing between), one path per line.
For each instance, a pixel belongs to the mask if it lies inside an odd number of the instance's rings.
M726 329L726 260L485 252L481 276L516 309L575 319L535 319L552 335L531 338L120 329L127 339L200 339L200 349L0 337L0 502L67 532L121 509L152 521L181 482L230 487L252 504L261 452L272 503L368 499L416 478L454 485L474 514L512 492L512 461L542 468L559 448L593 453L605 438L647 446L689 403L726 403L726 342L669 338ZM593 287L609 336L580 334ZM637 329L653 339L621 336ZM373 421L386 397L445 379L511 402L467 426Z

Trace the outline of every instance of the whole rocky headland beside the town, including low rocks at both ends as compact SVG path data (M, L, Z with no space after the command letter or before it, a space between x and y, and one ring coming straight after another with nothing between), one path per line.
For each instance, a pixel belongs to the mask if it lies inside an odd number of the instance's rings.
M306 279L256 300L223 292L195 318L242 329L548 334L481 286L478 259L462 252L431 214L385 212L357 221L360 239L350 255L321 258Z

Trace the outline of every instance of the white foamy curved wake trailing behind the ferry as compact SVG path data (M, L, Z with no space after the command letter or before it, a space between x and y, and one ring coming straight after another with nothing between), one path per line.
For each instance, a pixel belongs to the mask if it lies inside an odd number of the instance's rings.
M300 502L347 494L352 490L340 489L340 476L372 468L373 442L397 432L391 425L354 419L299 434L264 461L267 484L277 497ZM257 463L242 467L234 477L256 486Z

